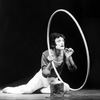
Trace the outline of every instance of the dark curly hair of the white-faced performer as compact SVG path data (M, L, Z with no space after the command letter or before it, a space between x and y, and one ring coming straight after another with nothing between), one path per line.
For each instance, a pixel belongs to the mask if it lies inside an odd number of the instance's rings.
M55 44L55 39L59 38L59 37L62 37L63 39L65 39L65 36L63 34L61 34L61 33L54 32L54 33L50 34L50 48L51 49L55 48L55 45L56 45Z

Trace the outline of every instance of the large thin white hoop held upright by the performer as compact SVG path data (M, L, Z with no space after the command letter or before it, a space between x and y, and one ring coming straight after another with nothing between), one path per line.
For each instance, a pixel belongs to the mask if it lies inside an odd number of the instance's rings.
M88 50L87 42L86 42L85 36L83 34L83 31L82 31L79 23L77 22L77 20L74 18L74 16L70 12L68 12L67 10L58 9L50 16L50 19L48 21L48 26L47 26L47 47L48 47L49 55L50 55L50 42L49 42L50 25L51 25L51 21L52 21L53 16L58 12L66 13L69 17L71 17L71 19L75 22L75 24L76 24L76 26L77 26L80 34L81 34L81 37L83 39L84 45L85 45L86 56L87 56L87 73L86 73L85 80L84 80L83 84L79 88L77 88L77 89L70 88L70 90L72 90L72 91L78 91L78 90L80 90L80 89L82 89L84 87L84 85L85 85L85 83L86 83L86 81L88 79L88 75L89 75L90 58L89 58L89 50ZM60 79L61 82L63 82L63 80L61 79L60 75L58 74L53 62L52 62L52 65L53 65L54 71L57 74L58 78Z

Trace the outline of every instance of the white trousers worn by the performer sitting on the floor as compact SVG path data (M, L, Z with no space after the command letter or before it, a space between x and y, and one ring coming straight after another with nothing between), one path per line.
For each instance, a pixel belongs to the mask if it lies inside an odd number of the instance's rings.
M44 87L42 93L50 93L50 83L59 82L58 78L45 78L42 75L42 70L40 69L35 76L24 85L16 86L16 87L6 87L3 89L3 92L6 93L33 93L34 91ZM69 91L69 85L64 83L64 91Z

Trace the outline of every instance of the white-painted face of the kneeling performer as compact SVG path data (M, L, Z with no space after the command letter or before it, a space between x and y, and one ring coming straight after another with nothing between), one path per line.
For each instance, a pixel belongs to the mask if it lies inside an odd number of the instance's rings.
M63 50L65 48L64 39L62 37L55 39L56 49Z

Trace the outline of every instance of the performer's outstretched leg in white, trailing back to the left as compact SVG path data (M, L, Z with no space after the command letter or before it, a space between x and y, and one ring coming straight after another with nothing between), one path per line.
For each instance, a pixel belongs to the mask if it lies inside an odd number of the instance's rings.
M36 75L25 85L20 85L17 87L6 87L3 89L3 92L6 93L32 93L36 91L37 89L43 87L42 82L42 74L41 71L36 73Z

